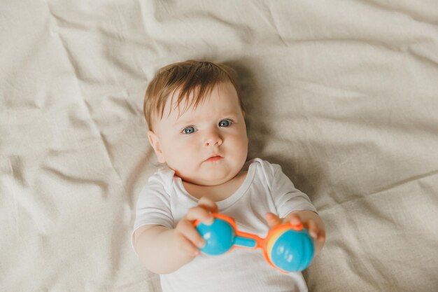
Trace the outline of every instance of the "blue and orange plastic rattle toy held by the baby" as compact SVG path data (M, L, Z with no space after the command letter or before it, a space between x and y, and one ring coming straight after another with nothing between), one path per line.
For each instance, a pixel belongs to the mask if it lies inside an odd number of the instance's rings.
M267 263L281 272L302 271L313 259L315 246L302 224L278 225L269 230L267 237L261 238L237 230L236 222L229 216L213 214L213 217L211 225L194 223L206 242L200 250L210 256L219 256L234 247L262 249Z

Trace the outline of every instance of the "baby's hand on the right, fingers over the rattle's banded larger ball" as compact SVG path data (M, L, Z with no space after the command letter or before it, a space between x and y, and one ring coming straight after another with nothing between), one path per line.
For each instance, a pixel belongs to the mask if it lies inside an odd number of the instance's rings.
M301 218L297 214L289 214L286 218L278 218L275 214L267 213L265 215L266 221L269 225L269 228L274 228L276 225L290 223L292 225L300 225L302 224L304 228L309 231L309 235L313 240L318 242L325 241L325 231L320 230L318 225L313 219L309 219L308 221L302 221Z

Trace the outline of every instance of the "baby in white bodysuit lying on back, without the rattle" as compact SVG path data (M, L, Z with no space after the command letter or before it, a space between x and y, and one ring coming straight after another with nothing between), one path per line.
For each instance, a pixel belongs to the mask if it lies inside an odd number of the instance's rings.
M148 85L144 113L158 162L136 205L133 245L167 291L307 291L300 272L283 274L262 253L234 249L199 252L204 239L193 222L232 216L239 230L265 237L290 222L309 230L318 253L323 221L309 197L279 165L247 161L245 110L234 71L224 64L187 61L158 71Z

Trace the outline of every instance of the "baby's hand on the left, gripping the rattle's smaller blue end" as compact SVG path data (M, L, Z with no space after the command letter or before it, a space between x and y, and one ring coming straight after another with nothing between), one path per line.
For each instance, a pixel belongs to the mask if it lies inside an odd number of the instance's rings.
M175 231L180 243L179 246L188 255L192 257L198 256L200 253L198 248L205 245L205 240L199 235L193 222L199 220L206 225L211 225L214 220L211 213L216 212L218 212L216 203L206 197L202 197L198 205L190 208L185 217L176 225Z

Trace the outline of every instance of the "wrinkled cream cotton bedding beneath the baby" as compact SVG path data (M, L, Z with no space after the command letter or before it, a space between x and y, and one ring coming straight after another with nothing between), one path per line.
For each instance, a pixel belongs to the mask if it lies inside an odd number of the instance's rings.
M0 291L159 292L130 242L157 69L239 74L309 195L309 291L438 291L437 1L0 1Z

